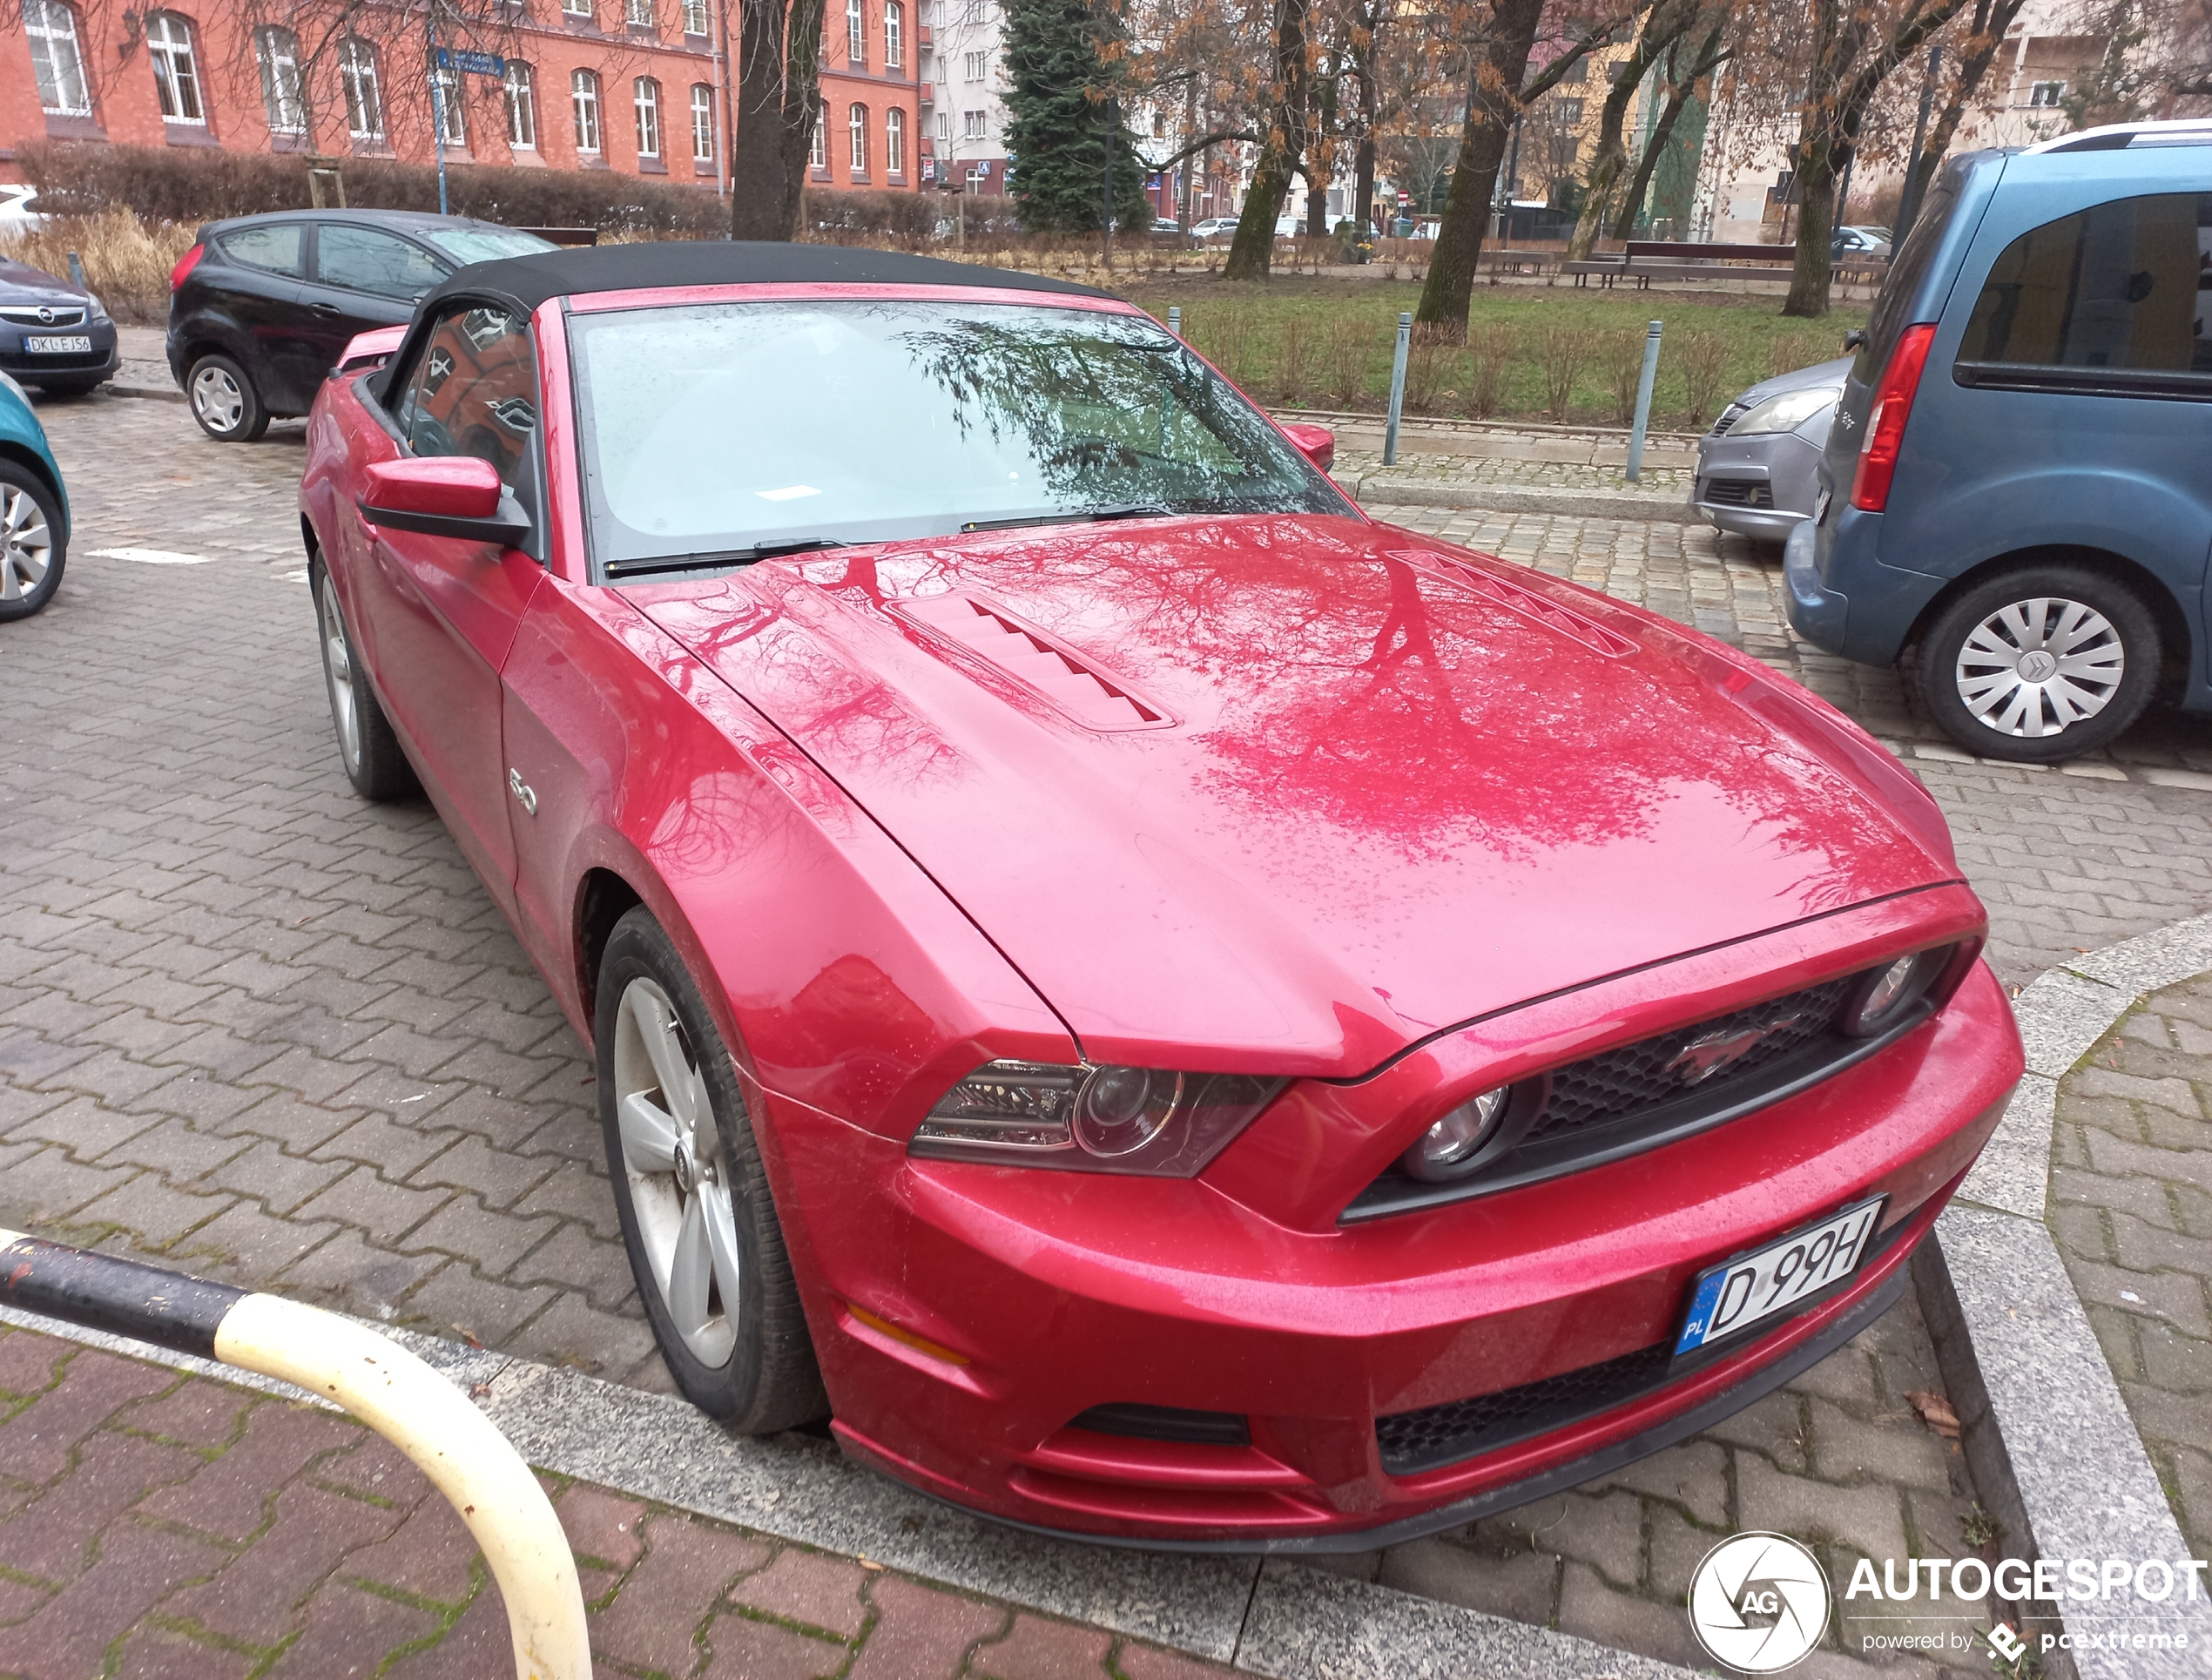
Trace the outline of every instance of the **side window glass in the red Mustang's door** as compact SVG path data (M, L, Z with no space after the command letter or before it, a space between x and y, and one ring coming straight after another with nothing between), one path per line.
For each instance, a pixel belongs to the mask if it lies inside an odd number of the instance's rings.
M422 345L394 409L418 456L478 456L524 507L538 496L538 356L518 314L471 308L445 317Z

